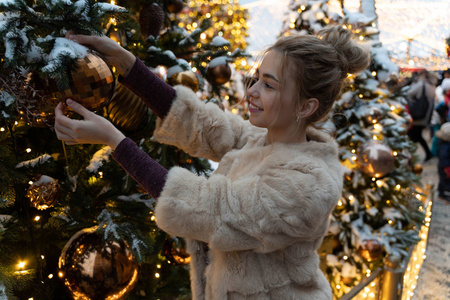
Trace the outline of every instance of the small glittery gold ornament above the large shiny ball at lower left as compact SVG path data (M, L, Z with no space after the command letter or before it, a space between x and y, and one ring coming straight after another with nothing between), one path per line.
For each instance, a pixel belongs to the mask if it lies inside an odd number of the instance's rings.
M61 199L61 187L58 180L40 175L30 185L25 196L30 200L31 207L46 210Z

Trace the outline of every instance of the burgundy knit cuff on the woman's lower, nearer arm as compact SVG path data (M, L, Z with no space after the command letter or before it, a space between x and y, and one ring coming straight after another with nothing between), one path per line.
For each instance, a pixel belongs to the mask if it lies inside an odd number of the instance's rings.
M153 198L158 198L166 183L168 170L142 151L130 138L123 139L113 158Z

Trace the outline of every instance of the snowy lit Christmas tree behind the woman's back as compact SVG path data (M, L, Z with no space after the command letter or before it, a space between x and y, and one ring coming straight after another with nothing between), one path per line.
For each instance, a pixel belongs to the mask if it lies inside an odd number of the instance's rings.
M411 118L405 89L392 84L398 68L378 39L374 9L370 1L361 1L359 12L334 2L291 1L282 34L317 34L338 25L370 47L370 67L348 74L327 124L336 132L345 168L344 190L323 245L323 270L339 298L377 268L405 266L419 240L424 197L417 147L406 135Z

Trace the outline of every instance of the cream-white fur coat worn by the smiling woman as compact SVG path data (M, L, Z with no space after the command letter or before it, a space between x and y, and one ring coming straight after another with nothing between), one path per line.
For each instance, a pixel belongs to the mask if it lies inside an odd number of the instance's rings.
M266 129L176 90L154 137L220 161L210 178L172 168L155 209L187 240L193 299L331 299L316 250L341 195L336 142L310 129L309 142L265 146Z

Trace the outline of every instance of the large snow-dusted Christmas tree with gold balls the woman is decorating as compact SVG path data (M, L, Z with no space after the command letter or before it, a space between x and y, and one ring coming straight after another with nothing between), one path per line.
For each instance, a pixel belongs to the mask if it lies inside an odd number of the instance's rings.
M190 298L189 256L182 239L157 228L155 200L111 148L65 146L53 120L58 102L76 98L166 168L208 176L209 161L152 139L156 117L114 69L64 38L69 30L106 34L169 84L218 105L237 103L246 12L214 1L209 16L191 14L200 2L0 1L0 296ZM218 22L234 27L218 31ZM235 28L242 31L230 35Z

